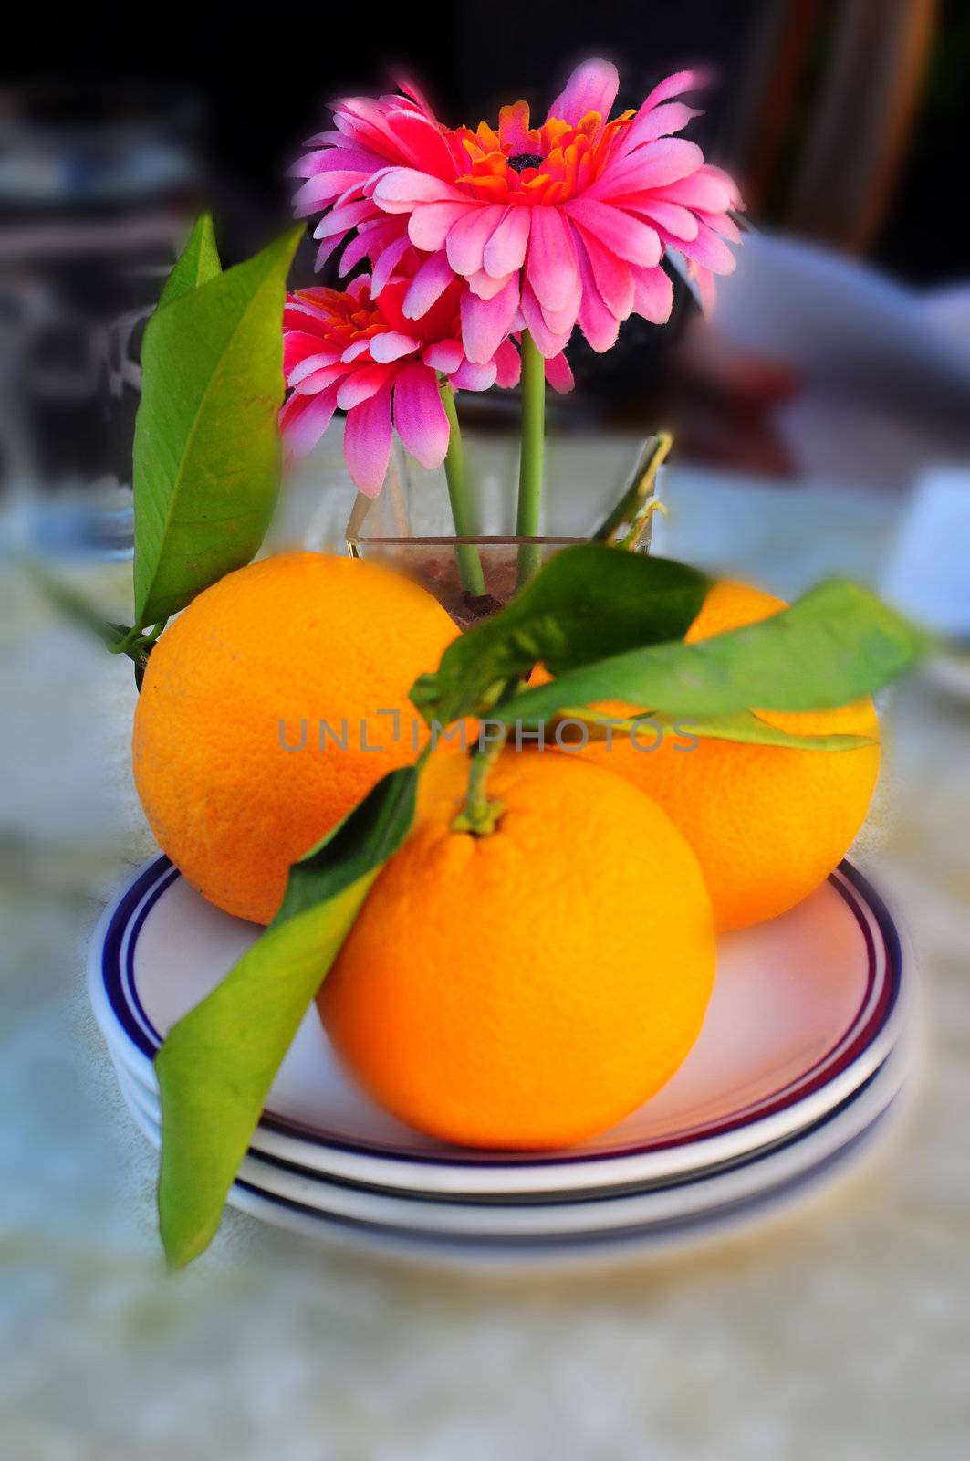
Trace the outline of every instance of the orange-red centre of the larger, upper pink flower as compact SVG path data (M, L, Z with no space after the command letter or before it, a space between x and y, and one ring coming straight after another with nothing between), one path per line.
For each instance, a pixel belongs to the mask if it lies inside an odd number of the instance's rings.
M605 123L597 111L589 111L576 127L558 117L530 127L527 102L503 107L498 131L486 121L475 131L454 131L470 162L470 171L456 183L488 203L562 203L599 177L633 115L625 111Z

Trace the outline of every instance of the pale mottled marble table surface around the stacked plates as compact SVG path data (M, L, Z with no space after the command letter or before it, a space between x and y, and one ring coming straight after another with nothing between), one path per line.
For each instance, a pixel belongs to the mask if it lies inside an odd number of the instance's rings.
M878 583L900 504L681 470L663 546L792 593ZM126 567L92 577L124 606ZM862 839L922 966L926 1053L881 1160L782 1227L513 1283L340 1256L229 1213L169 1278L155 1153L83 992L152 850L127 663L0 577L0 1407L12 1461L950 1461L970 1451L970 704L888 712Z

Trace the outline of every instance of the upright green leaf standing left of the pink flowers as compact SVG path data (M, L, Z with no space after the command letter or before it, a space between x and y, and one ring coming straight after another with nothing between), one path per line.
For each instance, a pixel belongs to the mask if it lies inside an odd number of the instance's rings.
M213 273L203 219L148 323L134 432L139 627L241 568L263 541L279 489L282 314L301 232Z

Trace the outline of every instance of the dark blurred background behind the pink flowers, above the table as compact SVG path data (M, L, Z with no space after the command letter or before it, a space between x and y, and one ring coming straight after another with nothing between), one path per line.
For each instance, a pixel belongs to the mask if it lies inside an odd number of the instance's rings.
M110 510L126 506L111 494L129 485L140 330L194 212L215 209L228 263L253 253L288 215L286 168L327 99L387 86L396 60L453 123L494 118L508 96L548 102L596 50L621 64L621 105L681 66L716 70L694 134L739 178L764 238L723 291L716 329L682 294L672 327L631 320L605 359L577 335L580 392L561 409L574 428L663 419L692 460L882 487L906 485L933 451L970 454L969 264L948 212L967 124L960 0L695 0L690 15L625 0L595 18L498 3L486 20L431 4L421 16L384 18L373 44L349 45L305 44L299 22L229 37L197 16L187 44L172 12L133 44L67 18L7 53L0 494L61 498L41 536L124 536ZM313 278L310 243L297 278ZM95 523L72 517L95 500Z

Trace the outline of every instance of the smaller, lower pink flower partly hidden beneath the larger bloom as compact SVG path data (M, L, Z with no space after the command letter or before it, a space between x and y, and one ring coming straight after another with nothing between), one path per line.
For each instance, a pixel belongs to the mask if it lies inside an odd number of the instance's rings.
M346 411L343 454L351 476L374 497L384 481L392 424L427 468L448 450L448 419L438 374L454 389L514 386L519 352L503 340L488 361L472 364L460 339L460 281L453 281L419 318L402 311L409 279L390 279L380 301L368 275L345 291L301 289L286 297L283 374L291 394L280 412L286 451L304 456Z

